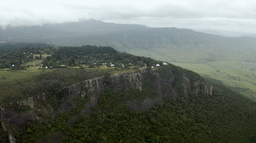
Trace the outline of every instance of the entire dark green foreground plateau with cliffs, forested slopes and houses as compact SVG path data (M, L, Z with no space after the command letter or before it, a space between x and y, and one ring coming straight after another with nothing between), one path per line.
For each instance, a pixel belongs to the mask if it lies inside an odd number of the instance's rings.
M17 142L256 142L256 103L195 72L111 47L51 48L42 63L25 49L16 64L31 66L3 71L29 76L0 83Z

